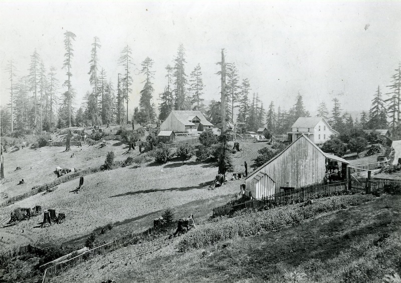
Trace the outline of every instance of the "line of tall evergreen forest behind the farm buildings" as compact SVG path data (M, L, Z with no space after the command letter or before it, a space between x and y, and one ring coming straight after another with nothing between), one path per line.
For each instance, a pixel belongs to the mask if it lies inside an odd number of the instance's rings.
M64 34L64 61L54 62L54 66L45 66L43 60L34 50L31 62L24 75L17 76L15 62L9 61L7 72L10 79L10 103L0 111L1 134L7 135L14 131L40 134L42 131L53 131L57 128L71 126L91 126L102 124L125 124L128 121L142 125L163 121L172 110L199 110L217 127L221 126L220 96L205 105L202 68L198 63L189 76L186 74L186 56L182 44L172 60L163 70L166 85L164 91L154 93L154 62L146 57L140 64L139 75L143 77L139 105L134 108L132 117L128 117L129 94L132 92L134 58L132 50L127 45L116 64L123 71L118 74L117 81L108 78L107 70L101 67L99 50L101 41L93 38L91 59L88 64L88 80L92 89L86 92L84 102L75 108L76 88L71 83L74 75L74 42L76 35L72 32ZM60 51L61 52L61 51ZM136 62L138 63L138 62ZM244 131L255 131L266 126L270 132L285 134L298 117L310 116L306 110L302 96L298 93L294 105L289 109L275 107L273 101L265 109L261 96L252 92L248 78L240 79L235 63L226 64L226 120L241 122ZM62 66L65 81L60 83L56 77L56 67ZM21 72L22 73L22 72ZM219 77L216 76L216 80ZM337 97L333 97L330 111L322 102L317 116L324 117L332 127L341 132L345 127L362 129L378 129L390 127L394 135L400 133L400 89L401 63L398 63L394 73L390 75L386 90L372 90L366 95L371 100L371 108L363 111L360 117L353 119L344 112ZM157 99L158 111L154 104ZM237 110L236 110L237 109ZM158 114L156 114L156 112Z

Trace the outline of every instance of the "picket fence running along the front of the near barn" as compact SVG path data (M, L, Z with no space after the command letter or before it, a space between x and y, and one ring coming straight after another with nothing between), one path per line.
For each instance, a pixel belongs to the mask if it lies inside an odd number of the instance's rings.
M364 187L351 186L351 192L365 192ZM348 183L333 183L328 185L312 185L299 189L290 189L283 192L275 193L262 199L248 200L234 205L223 205L213 209L213 216L221 216L232 213L233 211L244 208L259 208L265 205L274 204L289 204L300 200L307 200L311 198L320 198L327 195L335 195L348 190Z

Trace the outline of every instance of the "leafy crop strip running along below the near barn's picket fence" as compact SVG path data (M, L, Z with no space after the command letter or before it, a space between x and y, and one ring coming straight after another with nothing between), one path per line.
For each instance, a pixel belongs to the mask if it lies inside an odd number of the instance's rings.
M347 195L317 201L310 205L281 206L258 212L248 212L189 231L178 243L180 252L206 247L237 236L255 235L260 231L275 231L298 224L320 213L359 205L374 198L372 195Z

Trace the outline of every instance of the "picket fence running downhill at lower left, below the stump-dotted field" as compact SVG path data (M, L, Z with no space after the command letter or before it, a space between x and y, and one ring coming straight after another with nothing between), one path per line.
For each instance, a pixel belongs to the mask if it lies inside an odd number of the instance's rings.
M64 261L59 262L59 263L57 263L57 264L55 264L55 265L53 265L51 267L46 268L45 274L44 274L44 277L43 277L43 282L45 281L47 275L60 273L66 267L68 267L70 265L74 265L74 264L84 260L85 258L87 258L90 255L95 255L95 254L102 253L105 250L107 250L108 248L113 247L113 246L120 247L120 246L122 246L122 245L124 245L126 243L132 242L132 240L134 238L141 238L141 239L147 238L147 237L153 235L156 231L160 231L161 228L171 229L171 228L176 227L176 226L177 226L177 221L173 221L173 222L171 222L171 223L169 223L167 225L162 225L162 226L160 226L158 228L149 227L148 229L146 229L146 230L144 230L142 232L126 234L126 235L122 236L121 238L115 239L115 240L113 240L111 242L108 242L108 243L105 243L105 244L101 244L101 245L99 245L97 247L94 247L94 248L92 248L92 249L90 249L88 251L85 251L85 252L81 253L80 255L77 255L75 257L72 257L70 259L64 260ZM152 251L153 251L153 249L152 250L145 250L144 252L140 252L140 253L138 253L136 255L133 255L133 258L142 257L142 256L144 256L146 254L151 253Z

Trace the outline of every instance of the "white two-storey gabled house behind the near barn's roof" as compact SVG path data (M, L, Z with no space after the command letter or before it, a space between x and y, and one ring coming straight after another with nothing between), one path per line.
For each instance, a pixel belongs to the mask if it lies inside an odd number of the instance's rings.
M315 144L322 144L331 136L338 135L338 132L322 117L299 117L287 134L290 142L294 142L304 134Z

